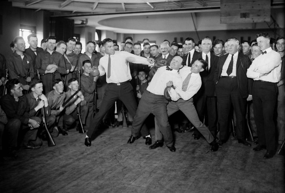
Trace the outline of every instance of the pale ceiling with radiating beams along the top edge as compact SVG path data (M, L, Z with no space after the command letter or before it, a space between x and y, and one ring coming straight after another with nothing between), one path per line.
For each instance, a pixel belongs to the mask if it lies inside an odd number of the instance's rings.
M213 8L220 0L9 0L13 7L50 10L56 15Z

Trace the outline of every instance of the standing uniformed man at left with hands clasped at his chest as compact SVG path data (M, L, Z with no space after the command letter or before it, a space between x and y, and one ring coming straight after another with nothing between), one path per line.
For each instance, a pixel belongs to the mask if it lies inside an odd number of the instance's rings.
M36 58L36 68L44 85L44 94L53 90L53 80L67 73L64 57L56 52L56 37L47 38L47 49L39 52Z

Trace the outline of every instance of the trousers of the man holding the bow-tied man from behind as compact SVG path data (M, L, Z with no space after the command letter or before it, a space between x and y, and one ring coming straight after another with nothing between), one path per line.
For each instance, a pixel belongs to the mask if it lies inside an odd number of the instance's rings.
M188 101L179 99L178 101L170 101L168 103L167 105L168 116L171 116L173 113L179 110L182 111L186 115L186 117L189 119L192 125L194 125L194 127L197 128L197 130L205 137L208 143L211 143L212 141L214 141L215 138L213 137L208 127L199 120L199 117L196 112L195 106L193 104L192 98L189 99ZM162 140L162 136L161 136L162 132L158 132L160 131L160 127L159 129L157 129L157 127L159 126L156 124L155 133L156 135L158 135L157 139Z

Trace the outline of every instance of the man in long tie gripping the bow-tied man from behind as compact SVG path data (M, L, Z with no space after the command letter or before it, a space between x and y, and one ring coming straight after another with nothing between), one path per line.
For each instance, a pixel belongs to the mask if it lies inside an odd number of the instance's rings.
M217 151L219 148L218 143L216 143L215 138L211 134L210 130L206 125L204 125L198 117L197 111L193 104L193 95L198 92L202 85L200 72L207 68L208 64L203 59L196 60L192 67L184 66L179 70L179 75L181 76L183 82L175 89L172 88L173 83L167 82L167 91L172 99L167 105L167 115L170 116L178 110L181 110L189 121L196 127L199 132L205 137L205 139L212 145L211 151ZM157 147L163 146L162 138L163 127L157 124L156 121L156 138L157 141L150 146L150 149L155 149ZM164 139L165 140L165 139Z

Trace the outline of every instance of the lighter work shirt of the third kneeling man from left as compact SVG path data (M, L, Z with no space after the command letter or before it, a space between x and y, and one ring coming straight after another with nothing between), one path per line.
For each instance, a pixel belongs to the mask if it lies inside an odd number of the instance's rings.
M59 115L60 110L59 107L63 104L64 99L66 98L65 92L57 93L55 90L52 90L46 94L48 106L50 106L50 114L51 115Z

